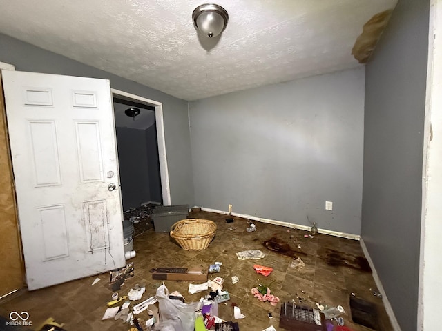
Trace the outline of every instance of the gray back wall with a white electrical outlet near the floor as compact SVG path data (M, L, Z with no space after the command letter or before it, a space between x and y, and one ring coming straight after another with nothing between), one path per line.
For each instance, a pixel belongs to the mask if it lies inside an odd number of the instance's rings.
M364 77L357 68L190 102L196 203L359 234Z

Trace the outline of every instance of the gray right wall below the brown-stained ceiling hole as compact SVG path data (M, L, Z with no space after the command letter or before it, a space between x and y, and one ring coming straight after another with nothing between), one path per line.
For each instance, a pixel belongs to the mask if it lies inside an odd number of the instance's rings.
M361 232L403 331L417 330L429 2L398 2L366 68Z

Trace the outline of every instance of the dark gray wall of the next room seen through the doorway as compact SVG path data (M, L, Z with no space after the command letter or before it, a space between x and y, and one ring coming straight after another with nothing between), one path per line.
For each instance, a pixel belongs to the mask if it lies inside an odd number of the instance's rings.
M123 209L151 201L146 130L117 127L119 177Z

